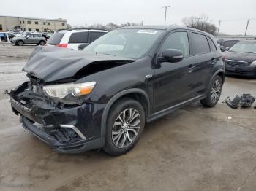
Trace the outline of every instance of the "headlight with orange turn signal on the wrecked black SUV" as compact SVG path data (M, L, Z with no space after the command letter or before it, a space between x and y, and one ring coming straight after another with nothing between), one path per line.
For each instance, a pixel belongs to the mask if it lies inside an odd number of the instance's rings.
M69 83L62 85L45 85L43 91L53 98L65 98L67 95L79 97L87 95L94 89L96 82L85 82L80 84Z

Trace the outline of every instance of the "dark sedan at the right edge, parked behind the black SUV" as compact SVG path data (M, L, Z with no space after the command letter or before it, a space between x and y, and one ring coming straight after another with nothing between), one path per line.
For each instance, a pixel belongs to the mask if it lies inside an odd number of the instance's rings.
M256 41L238 42L224 54L227 74L256 77Z

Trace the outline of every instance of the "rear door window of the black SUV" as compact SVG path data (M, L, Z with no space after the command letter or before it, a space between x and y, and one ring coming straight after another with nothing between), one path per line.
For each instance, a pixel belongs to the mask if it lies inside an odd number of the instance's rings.
M203 54L203 53L210 52L210 47L206 39L206 36L204 36L203 34L197 34L197 33L192 33L192 36L195 42L196 54Z

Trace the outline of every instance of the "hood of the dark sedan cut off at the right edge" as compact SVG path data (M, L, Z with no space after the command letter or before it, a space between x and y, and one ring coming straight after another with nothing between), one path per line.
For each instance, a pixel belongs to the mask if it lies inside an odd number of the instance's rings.
M228 60L235 60L235 61L246 61L252 63L256 60L256 54L254 53L246 53L246 52L230 52L225 51L223 52Z

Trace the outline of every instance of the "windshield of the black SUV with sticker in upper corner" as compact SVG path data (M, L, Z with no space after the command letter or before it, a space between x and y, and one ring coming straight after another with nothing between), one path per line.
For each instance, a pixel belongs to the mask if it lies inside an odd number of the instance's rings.
M136 59L148 52L161 33L154 29L118 29L101 36L83 51Z

